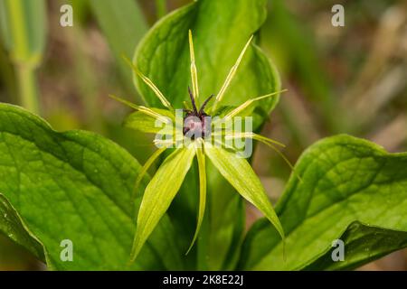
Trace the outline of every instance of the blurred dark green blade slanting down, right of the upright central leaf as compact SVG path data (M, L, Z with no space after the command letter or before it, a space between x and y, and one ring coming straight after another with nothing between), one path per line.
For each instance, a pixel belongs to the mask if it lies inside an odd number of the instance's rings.
M341 129L336 113L337 99L333 96L327 74L322 69L323 60L318 54L308 23L290 12L286 1L270 0L268 3L270 13L261 29L262 45L270 52L270 57L277 61L283 75L287 78L293 76L298 80L304 97L313 105L313 110L324 119L324 122L318 123L319 129L337 133ZM285 119L298 122L288 107L282 109L288 114ZM294 126L300 125L295 123ZM310 141L306 129L298 127L296 130L298 135L295 135L296 140L303 145L309 145L313 141Z

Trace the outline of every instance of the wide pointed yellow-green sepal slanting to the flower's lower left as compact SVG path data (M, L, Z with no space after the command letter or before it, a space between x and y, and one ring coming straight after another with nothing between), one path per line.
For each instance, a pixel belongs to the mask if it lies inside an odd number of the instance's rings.
M166 213L186 172L194 160L194 148L177 149L170 154L148 183L137 216L137 229L130 254L130 263L134 262L156 224Z

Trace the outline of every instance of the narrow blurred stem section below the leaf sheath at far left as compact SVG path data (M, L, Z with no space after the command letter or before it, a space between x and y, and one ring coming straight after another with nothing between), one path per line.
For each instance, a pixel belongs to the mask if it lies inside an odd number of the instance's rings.
M23 107L34 114L39 114L38 88L35 79L35 69L32 66L16 65L20 102Z

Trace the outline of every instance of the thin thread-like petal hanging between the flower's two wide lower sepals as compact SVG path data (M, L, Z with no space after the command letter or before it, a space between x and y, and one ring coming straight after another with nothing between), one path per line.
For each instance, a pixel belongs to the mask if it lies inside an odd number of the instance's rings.
M205 205L206 205L206 164L205 164L205 154L203 142L200 142L201 147L196 147L196 159L198 160L198 171L199 171L199 211L198 219L196 224L196 230L194 238L191 242L191 246L186 251L186 254L194 247L196 238L198 238L199 231L201 229L202 221L204 219ZM185 255L186 255L185 254Z

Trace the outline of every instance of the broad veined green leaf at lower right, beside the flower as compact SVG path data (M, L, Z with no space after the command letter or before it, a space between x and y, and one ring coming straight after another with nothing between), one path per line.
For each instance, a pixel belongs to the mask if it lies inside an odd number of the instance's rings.
M407 154L388 154L383 148L348 135L337 135L311 145L302 154L276 206L286 232L286 262L275 230L264 220L248 234L242 250L241 269L301 269L331 248L353 222L383 236L388 230L407 231ZM366 228L363 228L366 231ZM362 230L363 232L363 230ZM345 238L361 231L350 228ZM392 232L388 232L388 237ZM350 234L350 235L346 235ZM400 235L402 236L402 235ZM394 244L375 247L374 234L364 236L364 246L347 252L357 265L395 249ZM403 241L398 241L403 247ZM365 254L360 252L363 248ZM372 255L369 254L372 252ZM361 257L363 256L363 257Z

